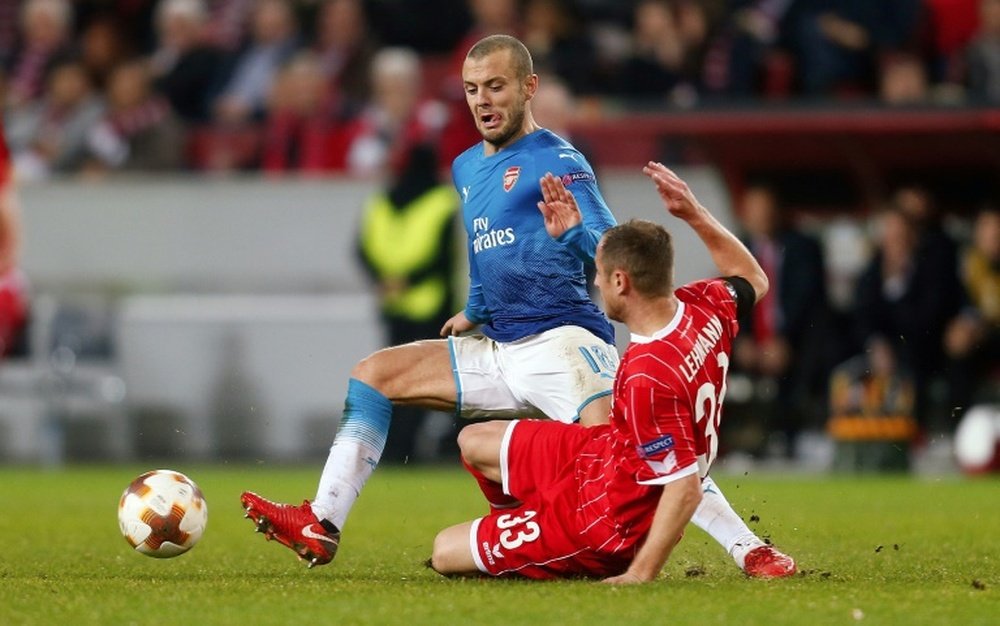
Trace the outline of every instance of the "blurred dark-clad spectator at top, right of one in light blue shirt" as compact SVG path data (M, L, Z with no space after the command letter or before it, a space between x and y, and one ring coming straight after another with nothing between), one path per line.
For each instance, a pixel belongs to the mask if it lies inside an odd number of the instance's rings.
M319 10L313 50L339 101L339 116L357 114L371 98L370 67L378 43L361 0L325 0Z

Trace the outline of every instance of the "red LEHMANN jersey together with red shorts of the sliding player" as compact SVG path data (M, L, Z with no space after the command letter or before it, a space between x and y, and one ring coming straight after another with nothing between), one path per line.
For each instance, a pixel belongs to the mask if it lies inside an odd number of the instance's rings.
M473 522L476 566L494 576L624 572L653 521L662 485L704 476L718 448L736 295L721 279L675 292L677 312L633 335L609 424L514 421L501 446L503 493L521 501Z

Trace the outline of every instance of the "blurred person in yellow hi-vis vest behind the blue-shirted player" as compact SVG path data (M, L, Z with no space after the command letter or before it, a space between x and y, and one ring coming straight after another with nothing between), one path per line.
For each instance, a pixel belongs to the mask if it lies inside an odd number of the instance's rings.
M459 201L441 180L438 156L429 144L401 150L385 191L365 203L358 257L378 290L386 345L435 339L451 317L461 244ZM383 461L413 459L427 411L397 407ZM398 428L397 428L398 427Z

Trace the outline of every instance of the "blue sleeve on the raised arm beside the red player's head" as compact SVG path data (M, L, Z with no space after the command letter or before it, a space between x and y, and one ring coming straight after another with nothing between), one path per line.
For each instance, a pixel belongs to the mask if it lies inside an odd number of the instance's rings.
M566 246L576 258L592 264L601 236L617 222L597 187L594 170L582 155L576 154L575 159L558 159L546 163L550 167L547 171L562 177L563 184L573 192L583 216L582 224L567 230L557 241Z

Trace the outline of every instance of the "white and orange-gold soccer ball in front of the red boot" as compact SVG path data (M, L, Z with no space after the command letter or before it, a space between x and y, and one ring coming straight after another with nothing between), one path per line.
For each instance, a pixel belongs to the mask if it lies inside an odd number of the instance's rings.
M165 559L184 554L201 539L208 505L190 478L153 470L133 480L118 501L118 525L136 552Z

